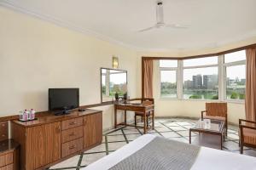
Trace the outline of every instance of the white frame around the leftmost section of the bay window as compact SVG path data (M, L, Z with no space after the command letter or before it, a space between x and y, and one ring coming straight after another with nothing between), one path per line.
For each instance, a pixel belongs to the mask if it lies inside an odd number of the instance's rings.
M159 60L177 60L177 59L159 59ZM160 76L160 91L159 91L159 98L160 99L178 99L178 67L179 67L179 60L177 60L177 67L160 67L160 62L159 63L159 71L161 75L161 71L176 71L176 97L175 98L170 98L170 97L162 97L161 96L161 76Z

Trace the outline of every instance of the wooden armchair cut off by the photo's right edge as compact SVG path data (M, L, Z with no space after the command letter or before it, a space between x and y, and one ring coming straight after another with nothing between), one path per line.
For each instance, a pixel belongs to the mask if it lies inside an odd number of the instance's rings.
M243 146L256 148L256 122L239 119L239 144L241 154Z

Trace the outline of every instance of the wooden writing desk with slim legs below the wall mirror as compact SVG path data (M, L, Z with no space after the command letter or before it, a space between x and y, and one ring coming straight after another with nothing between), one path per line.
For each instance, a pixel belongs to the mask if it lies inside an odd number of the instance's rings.
M128 104L124 104L124 103L116 103L114 104L114 127L116 128L118 126L117 124L117 111L118 110L122 110L125 111L125 122L124 123L119 123L119 125L125 125L127 126L126 123L126 111L135 111L135 112L141 112L143 113L143 130L144 130L144 134L147 133L147 114L149 111L152 111L152 128L154 129L154 105L137 105L137 104L132 104L132 103L128 103ZM131 126L131 125L129 125ZM137 127L137 126L135 126Z

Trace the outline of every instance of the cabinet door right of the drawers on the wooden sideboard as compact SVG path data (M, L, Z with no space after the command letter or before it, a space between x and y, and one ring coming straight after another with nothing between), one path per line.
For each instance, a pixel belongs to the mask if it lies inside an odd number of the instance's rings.
M84 116L84 149L102 143L102 112Z

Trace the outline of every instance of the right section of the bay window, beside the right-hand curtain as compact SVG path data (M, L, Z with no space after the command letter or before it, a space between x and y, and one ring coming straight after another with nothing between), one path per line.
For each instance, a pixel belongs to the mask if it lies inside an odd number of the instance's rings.
M245 99L246 53L245 50L224 55L225 99Z

